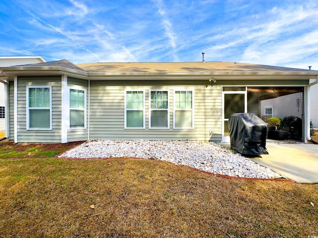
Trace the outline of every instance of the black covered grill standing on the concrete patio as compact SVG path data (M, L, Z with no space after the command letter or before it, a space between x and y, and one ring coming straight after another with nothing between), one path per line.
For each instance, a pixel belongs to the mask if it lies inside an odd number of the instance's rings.
M267 124L253 113L235 113L229 118L231 148L243 155L268 154Z

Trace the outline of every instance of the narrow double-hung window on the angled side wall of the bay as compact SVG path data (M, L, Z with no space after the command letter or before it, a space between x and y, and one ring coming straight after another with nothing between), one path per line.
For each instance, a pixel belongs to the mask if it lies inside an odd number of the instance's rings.
M70 128L86 128L86 90L70 88Z

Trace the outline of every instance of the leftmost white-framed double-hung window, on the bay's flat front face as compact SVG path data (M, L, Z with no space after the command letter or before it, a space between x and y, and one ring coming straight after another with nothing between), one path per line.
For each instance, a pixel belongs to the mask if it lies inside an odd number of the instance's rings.
M27 129L52 129L52 87L27 86Z

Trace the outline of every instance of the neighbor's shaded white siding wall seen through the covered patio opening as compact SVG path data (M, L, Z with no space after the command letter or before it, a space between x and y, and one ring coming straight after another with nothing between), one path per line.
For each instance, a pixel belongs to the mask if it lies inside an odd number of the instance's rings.
M297 104L300 99L300 104ZM273 107L273 117L283 119L287 116L302 117L303 94L294 93L278 98L261 101L261 115L264 115L264 107ZM298 107L299 106L299 107Z

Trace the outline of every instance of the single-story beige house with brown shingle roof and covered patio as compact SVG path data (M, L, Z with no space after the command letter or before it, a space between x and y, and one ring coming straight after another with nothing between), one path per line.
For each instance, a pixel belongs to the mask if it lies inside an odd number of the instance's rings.
M310 139L310 87L318 71L239 62L68 60L0 67L14 142L95 139L230 140L233 113L260 117L260 101L302 92Z

